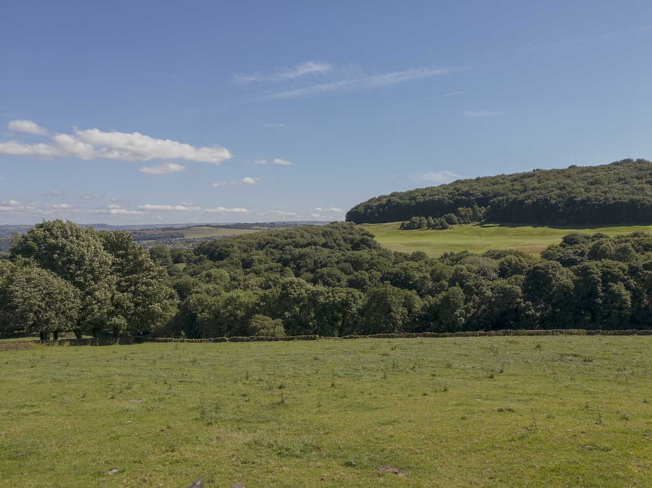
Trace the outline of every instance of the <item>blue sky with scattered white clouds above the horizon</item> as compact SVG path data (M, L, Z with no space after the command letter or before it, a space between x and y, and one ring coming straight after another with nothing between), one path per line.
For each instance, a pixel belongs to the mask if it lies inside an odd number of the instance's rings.
M649 0L8 0L0 46L0 224L332 221L652 159Z

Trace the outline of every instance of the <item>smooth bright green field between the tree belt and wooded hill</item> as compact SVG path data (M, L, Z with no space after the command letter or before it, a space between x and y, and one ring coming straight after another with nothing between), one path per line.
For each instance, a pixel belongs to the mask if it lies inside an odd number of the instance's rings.
M437 257L444 252L484 252L490 249L518 249L539 254L550 244L561 242L571 232L593 234L604 232L609 236L630 232L652 232L652 226L608 227L546 227L512 226L501 224L469 224L453 226L447 230L398 230L400 222L390 224L364 224L376 240L392 251L423 251Z

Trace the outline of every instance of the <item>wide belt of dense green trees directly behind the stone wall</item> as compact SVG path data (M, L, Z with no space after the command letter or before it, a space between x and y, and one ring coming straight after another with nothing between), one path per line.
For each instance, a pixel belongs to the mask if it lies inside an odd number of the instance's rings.
M649 329L652 235L573 233L429 258L351 223L144 251L122 231L43 222L0 261L5 333L170 337Z

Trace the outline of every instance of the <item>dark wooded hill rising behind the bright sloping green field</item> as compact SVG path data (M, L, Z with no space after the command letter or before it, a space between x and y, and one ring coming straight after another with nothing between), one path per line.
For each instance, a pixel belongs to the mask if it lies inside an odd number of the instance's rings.
M652 162L623 159L601 166L459 179L370 198L349 210L346 220L378 224L412 217L437 219L470 215L474 206L473 214L481 215L484 222L652 223Z

